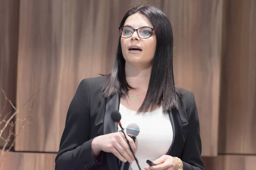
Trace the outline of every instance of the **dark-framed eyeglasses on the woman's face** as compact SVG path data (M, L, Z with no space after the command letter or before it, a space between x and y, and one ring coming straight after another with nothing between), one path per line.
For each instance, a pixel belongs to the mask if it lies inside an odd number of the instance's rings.
M140 38L149 38L153 31L156 31L155 28L151 28L151 27L147 27L147 26L144 26L144 27L140 27L140 28L132 28L132 27L129 27L129 26L124 26L124 27L119 27L119 32L120 32L120 36L123 37L123 38L130 38L134 31L137 32L137 35L140 37Z

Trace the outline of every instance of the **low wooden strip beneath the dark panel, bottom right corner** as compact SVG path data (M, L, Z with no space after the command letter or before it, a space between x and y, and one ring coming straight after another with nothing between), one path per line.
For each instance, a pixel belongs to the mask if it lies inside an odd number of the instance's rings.
M205 170L254 170L256 156L221 155L203 157Z

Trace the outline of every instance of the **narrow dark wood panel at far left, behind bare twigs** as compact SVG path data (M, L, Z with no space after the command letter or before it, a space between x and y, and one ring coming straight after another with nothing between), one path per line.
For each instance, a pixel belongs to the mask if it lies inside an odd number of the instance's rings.
M12 113L12 106L6 97L16 103L16 80L17 80L17 50L18 50L18 22L19 1L0 0L0 129L2 130ZM2 91L3 90L3 91ZM5 117L7 116L7 117ZM4 129L1 137L7 139L10 133L10 126ZM11 136L7 146L13 141ZM2 147L6 141L0 139Z

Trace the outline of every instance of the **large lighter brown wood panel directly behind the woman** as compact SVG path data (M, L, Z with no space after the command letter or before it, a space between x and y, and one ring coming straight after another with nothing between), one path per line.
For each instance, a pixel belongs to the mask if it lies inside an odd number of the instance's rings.
M17 107L23 112L32 102L34 107L16 150L58 151L67 108L79 82L111 71L119 22L128 8L144 3L20 0ZM176 83L195 94L202 154L216 155L222 0L146 3L162 8L172 22Z

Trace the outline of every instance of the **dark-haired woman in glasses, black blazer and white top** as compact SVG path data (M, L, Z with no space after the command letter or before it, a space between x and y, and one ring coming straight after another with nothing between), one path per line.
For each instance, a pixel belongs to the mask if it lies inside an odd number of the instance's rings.
M125 14L119 31L111 74L82 80L70 104L55 170L119 170L119 160L139 169L111 119L115 110L123 126L140 126L135 144L127 138L142 169L203 170L194 95L175 87L170 21L143 5Z

